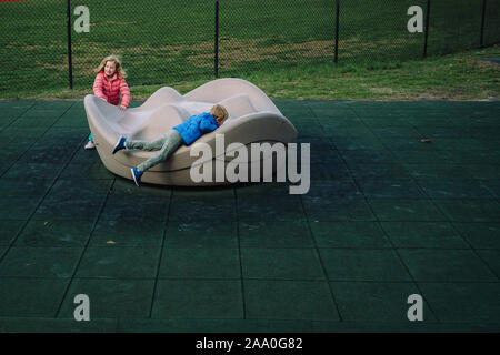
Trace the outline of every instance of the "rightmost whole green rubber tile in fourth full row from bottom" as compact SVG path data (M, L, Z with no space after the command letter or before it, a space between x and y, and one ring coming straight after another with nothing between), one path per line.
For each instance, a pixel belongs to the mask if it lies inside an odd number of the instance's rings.
M373 213L379 221L446 221L430 200L371 199Z

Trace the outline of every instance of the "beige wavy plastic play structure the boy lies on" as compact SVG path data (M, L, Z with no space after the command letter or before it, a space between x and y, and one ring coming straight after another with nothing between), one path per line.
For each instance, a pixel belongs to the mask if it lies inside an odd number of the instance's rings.
M183 186L230 183L226 178L224 181L216 182L216 160L223 160L227 166L234 159L227 156L230 155L229 150L221 154L219 146L218 152L216 151L216 134L223 134L224 151L234 142L246 145L249 153L249 176L251 161L254 160L260 160L262 168L263 161L270 159L273 162L273 172L280 169L279 162L272 159L272 153L251 156L250 144L291 143L296 141L297 131L266 93L248 81L233 78L213 80L184 95L164 87L154 92L142 105L124 111L94 95L84 98L90 131L103 164L114 174L127 179L132 179L130 173L132 166L137 166L156 152L122 150L113 155L111 151L120 135L126 135L130 140L159 139L191 115L208 112L214 103L226 106L228 120L193 144L181 145L167 161L148 170L142 175L142 182ZM212 149L212 181L194 182L190 176L191 165L199 162L201 156L190 156L191 148L198 142L204 142ZM218 166L220 169L220 162Z

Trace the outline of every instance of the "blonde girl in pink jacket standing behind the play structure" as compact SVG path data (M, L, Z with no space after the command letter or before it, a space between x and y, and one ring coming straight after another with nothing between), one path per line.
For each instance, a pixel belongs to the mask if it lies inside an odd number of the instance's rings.
M124 80L126 72L121 67L120 60L116 55L106 57L96 72L93 94L114 105L120 103L121 94L120 109L126 110L130 102L130 90ZM92 133L90 133L86 149L94 148Z

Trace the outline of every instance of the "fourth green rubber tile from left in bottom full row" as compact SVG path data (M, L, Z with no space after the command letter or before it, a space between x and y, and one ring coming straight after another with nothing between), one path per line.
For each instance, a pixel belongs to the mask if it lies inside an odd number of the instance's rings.
M247 318L339 321L327 282L244 281Z

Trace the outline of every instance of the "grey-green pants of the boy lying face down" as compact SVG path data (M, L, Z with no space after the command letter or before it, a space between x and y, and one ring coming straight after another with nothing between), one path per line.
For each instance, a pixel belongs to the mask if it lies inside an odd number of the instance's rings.
M151 166L167 160L183 143L182 136L177 130L170 130L166 135L153 142L126 141L127 149L138 149L141 151L159 151L147 161L137 166L137 170L144 172Z

